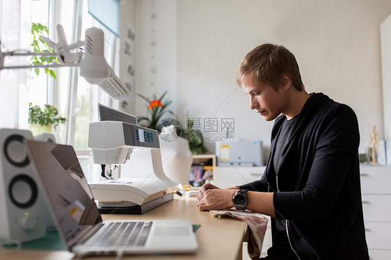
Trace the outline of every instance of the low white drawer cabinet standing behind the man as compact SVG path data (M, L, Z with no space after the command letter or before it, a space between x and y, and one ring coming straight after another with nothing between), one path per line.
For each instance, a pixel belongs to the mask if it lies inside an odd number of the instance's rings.
M214 170L214 184L228 188L260 179L266 166L221 167ZM391 259L391 165L360 165L362 209L369 256L374 260ZM270 222L262 246L262 254L271 246Z

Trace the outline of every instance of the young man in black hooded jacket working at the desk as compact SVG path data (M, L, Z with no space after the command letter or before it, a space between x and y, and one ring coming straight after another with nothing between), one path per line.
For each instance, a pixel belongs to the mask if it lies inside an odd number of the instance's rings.
M206 184L198 208L271 216L273 245L264 259L369 259L356 114L322 93L308 94L296 58L282 46L255 47L237 82L250 109L275 120L269 161L259 181L231 189Z

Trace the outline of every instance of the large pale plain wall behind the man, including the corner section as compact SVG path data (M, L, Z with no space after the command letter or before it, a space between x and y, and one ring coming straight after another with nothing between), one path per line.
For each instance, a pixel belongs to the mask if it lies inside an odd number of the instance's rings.
M295 54L308 92L349 104L360 124L360 152L376 125L383 131L379 26L389 0L160 0L138 1L137 90L169 89L173 110L191 117L234 117L235 138L270 145L273 122L248 108L237 87L237 66L253 47L283 44ZM150 76L147 35L151 3L157 13L157 74ZM157 23L157 24L156 24ZM173 28L175 27L175 28ZM175 48L175 49L173 49ZM136 113L145 106L136 102ZM216 133L223 136L225 133ZM207 143L210 152L214 145Z

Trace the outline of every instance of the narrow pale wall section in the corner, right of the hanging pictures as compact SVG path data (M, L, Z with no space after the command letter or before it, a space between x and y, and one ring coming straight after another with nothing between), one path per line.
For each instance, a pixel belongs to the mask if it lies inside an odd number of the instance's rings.
M177 9L175 0L138 1L136 92L177 99ZM152 18L153 16L153 18ZM170 108L177 111L175 104ZM136 99L136 115L146 115L145 101Z

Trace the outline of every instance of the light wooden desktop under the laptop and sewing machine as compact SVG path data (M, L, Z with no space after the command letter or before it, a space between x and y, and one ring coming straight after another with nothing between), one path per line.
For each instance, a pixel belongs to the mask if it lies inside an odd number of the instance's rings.
M102 215L104 220L158 220L189 219L192 224L200 224L196 231L198 252L196 254L159 255L159 256L124 256L122 259L241 259L241 248L246 223L234 218L214 219L209 211L199 211L195 197L179 197L163 204L144 215ZM73 259L74 254L67 251L22 250L9 252L0 250L1 260L17 259ZM115 257L86 257L86 259L115 259Z

